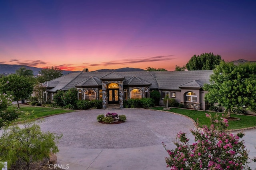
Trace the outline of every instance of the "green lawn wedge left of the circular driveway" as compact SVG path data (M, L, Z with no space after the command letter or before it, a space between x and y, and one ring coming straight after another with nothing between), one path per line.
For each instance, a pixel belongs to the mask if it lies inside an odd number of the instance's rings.
M9 106L10 108L16 107L16 106ZM49 115L56 115L56 114L62 114L62 113L69 113L77 110L68 110L68 109L56 109L56 108L50 108L50 107L39 107L39 106L29 106L29 105L20 105L20 111L22 111L22 114L16 121L23 121L24 115L28 111L31 113L31 111L34 112L34 115L29 115L29 118L33 119L34 116L37 118L49 116Z

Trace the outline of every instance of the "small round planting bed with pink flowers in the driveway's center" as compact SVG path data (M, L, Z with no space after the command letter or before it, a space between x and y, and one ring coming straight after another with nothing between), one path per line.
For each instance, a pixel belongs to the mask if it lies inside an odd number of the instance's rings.
M97 116L97 121L104 124L118 124L126 121L126 115L119 115L117 113L107 113Z

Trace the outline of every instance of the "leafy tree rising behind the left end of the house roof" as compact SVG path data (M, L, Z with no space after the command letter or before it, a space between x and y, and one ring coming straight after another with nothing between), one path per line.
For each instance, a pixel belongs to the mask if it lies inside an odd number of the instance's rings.
M62 76L62 70L58 67L47 67L39 71L38 82L43 83Z

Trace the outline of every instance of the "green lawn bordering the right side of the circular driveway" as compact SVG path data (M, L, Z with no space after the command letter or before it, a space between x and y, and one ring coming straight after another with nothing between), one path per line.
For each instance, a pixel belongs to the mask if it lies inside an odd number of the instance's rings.
M152 107L152 109L155 110L163 110L165 107ZM180 109L180 108L172 108L170 110L164 110L164 111L170 111L173 113L179 113L182 115L186 115L194 121L198 119L199 126L202 127L202 125L210 126L209 119L205 116L205 113L209 113L212 115L215 115L216 113L219 114L219 118L222 117L222 114L225 113L219 113L219 112L209 112L209 111L199 111L199 110L189 110L189 109ZM248 128L248 127L255 127L256 126L256 116L250 116L250 115L234 115L231 114L231 117L238 117L240 120L238 121L229 121L228 122L228 129L242 129L242 128Z

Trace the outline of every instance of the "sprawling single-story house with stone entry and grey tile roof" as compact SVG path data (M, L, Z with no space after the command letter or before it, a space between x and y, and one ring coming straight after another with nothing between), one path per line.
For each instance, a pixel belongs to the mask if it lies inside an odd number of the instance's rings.
M204 101L212 70L193 71L132 71L132 72L74 72L44 82L45 101L52 101L58 90L76 88L79 100L102 100L102 108L109 105L124 107L124 100L149 98L150 92L161 94L160 106L165 96L175 98L186 108L207 109Z

